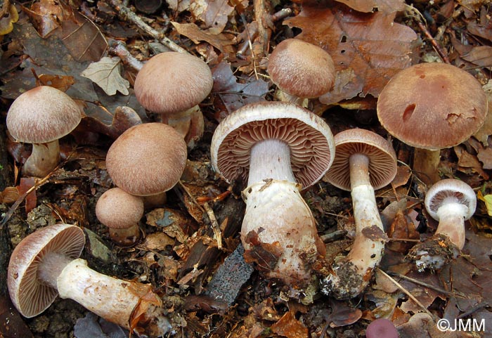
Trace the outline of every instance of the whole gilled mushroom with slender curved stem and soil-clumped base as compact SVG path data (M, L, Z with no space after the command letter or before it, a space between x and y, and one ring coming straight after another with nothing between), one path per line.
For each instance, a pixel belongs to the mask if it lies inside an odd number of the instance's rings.
M347 299L368 285L387 239L374 190L386 186L395 175L396 154L384 138L365 129L335 135L335 160L325 178L333 186L351 191L356 237L349 254L335 258L330 273L321 281L326 294Z

